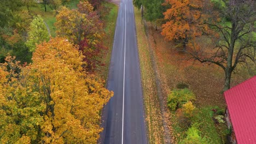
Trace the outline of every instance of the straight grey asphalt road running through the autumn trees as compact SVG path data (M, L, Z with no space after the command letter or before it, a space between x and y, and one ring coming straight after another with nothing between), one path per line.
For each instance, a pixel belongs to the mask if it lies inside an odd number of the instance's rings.
M131 0L120 3L107 88L114 96L102 111L99 142L148 143Z

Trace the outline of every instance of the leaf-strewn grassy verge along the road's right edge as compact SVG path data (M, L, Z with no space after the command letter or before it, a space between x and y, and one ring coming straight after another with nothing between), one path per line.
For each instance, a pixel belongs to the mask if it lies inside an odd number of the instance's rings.
M149 143L164 143L162 116L159 100L156 94L156 84L152 61L149 54L149 45L144 26L141 24L141 13L135 8L135 22L139 60L141 65L141 77L144 96L144 110L148 127Z

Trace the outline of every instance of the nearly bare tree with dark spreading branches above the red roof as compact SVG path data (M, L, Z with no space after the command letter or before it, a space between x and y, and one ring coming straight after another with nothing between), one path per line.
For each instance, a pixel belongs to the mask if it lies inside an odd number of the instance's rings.
M213 49L191 44L191 56L201 63L213 63L225 72L224 91L230 88L231 75L237 65L249 64L256 67L256 37L254 1L221 1L222 8L217 9L222 22L206 21L205 25L218 33L213 40ZM214 13L214 9L208 10ZM214 19L213 19L214 20ZM255 75L255 74L254 74Z

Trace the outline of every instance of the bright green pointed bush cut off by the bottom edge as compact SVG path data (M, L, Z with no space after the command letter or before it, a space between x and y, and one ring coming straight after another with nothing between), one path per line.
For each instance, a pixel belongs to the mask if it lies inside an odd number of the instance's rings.
M197 124L193 124L192 127L188 129L187 137L180 141L179 144L207 144L209 143L205 137L201 137L201 131L197 128Z

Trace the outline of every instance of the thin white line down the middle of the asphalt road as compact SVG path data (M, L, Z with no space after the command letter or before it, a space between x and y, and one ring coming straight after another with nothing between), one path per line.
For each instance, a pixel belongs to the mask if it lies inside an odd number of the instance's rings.
M126 4L125 4L125 43L126 43ZM123 83L122 144L124 143L124 87L125 87L125 46L124 46L124 83Z

